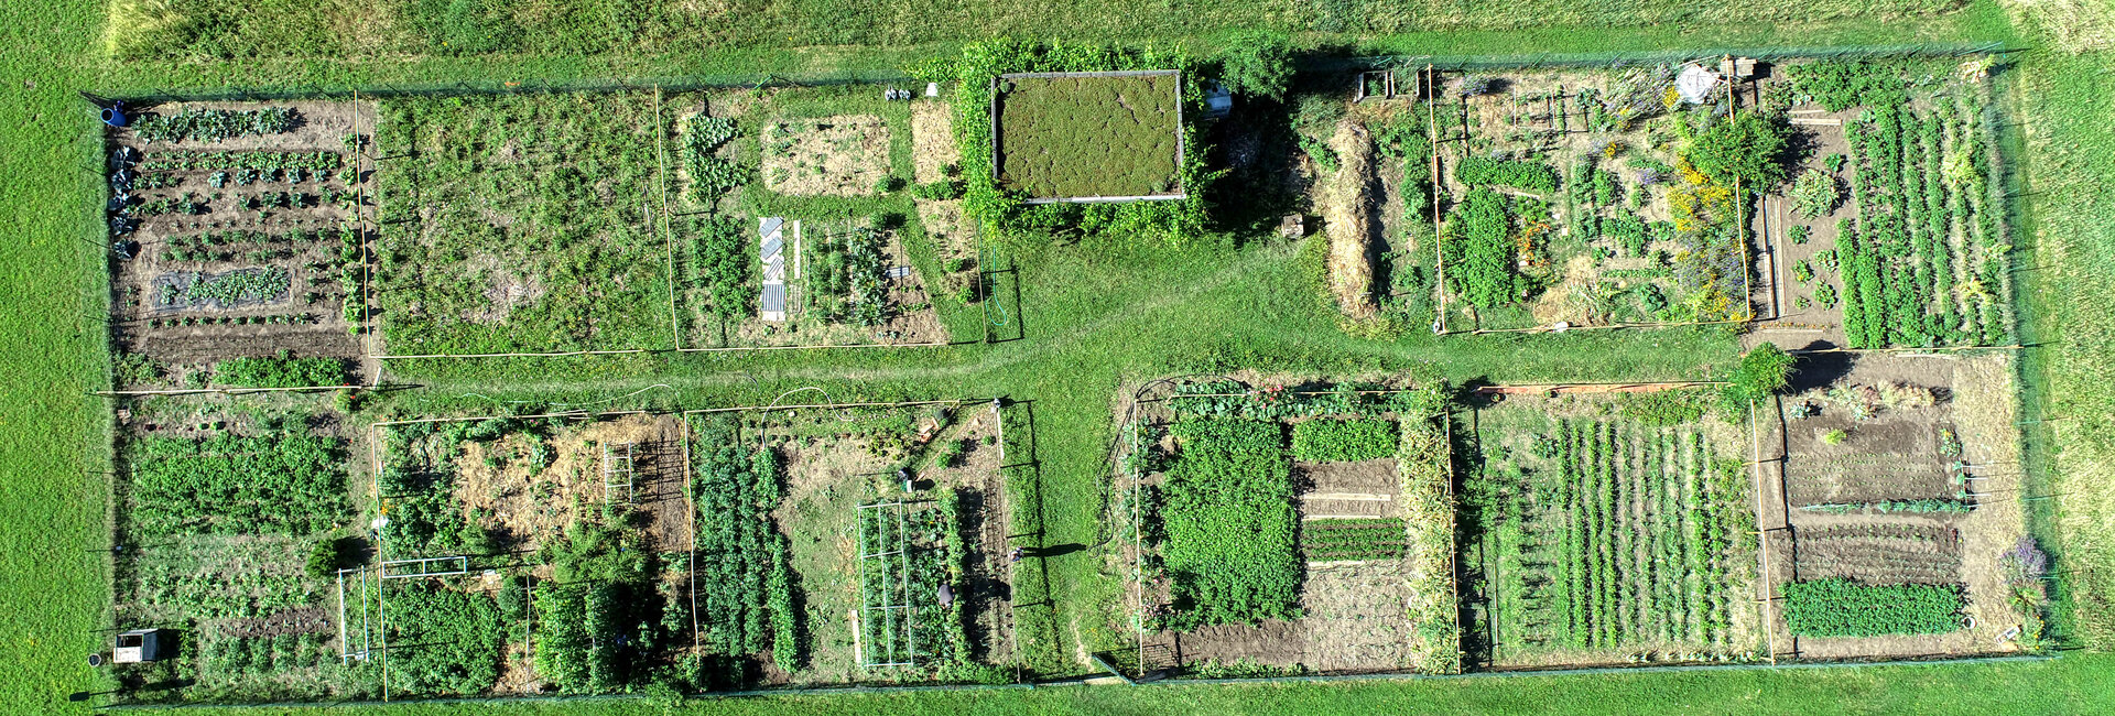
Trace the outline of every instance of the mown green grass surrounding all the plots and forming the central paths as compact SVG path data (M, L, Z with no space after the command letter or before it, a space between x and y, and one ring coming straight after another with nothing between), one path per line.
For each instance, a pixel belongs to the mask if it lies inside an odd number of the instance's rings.
M1292 2L1237 2L1210 8L1193 4L1106 6L1091 13L996 4L945 11L886 4L831 13L831 2L759 4L711 17L677 19L677 6L622 15L615 4L584 2L588 15L554 15L522 32L533 46L474 49L453 55L444 36L436 49L434 17L444 8L478 11L480 2L389 2L396 13L368 13L372 4L233 2L173 4L140 0L127 6L167 8L146 21L125 15L110 34L106 13L93 2L8 2L11 23L0 30L0 203L8 207L8 241L0 243L0 703L4 712L66 712L66 695L95 689L80 659L104 638L102 610L106 545L104 477L108 435L104 403L80 393L104 384L102 277L97 264L99 184L95 120L76 91L165 91L218 87L349 87L423 82L575 80L607 76L675 74L831 74L846 68L888 72L903 59L943 53L960 38L990 32L1041 36L1066 27L1072 36L1163 34L1210 44L1210 34L1231 23L1265 17L1294 30L1371 27L1396 36L1318 36L1368 51L1521 53L1607 51L1726 44L1832 44L2007 38L2005 13L1978 2L1963 13L1929 17L1952 2L1899 2L1872 8L1859 2L1766 4L1736 2L1692 11L1673 2L1643 6L1618 2L1519 2L1474 17L1453 4L1387 6L1330 2L1316 15ZM497 6L497 4L495 4ZM996 13L994 13L996 8ZM662 13L662 15L654 15ZM478 21L501 13L482 13ZM516 23L522 17L505 13ZM1823 25L1779 25L1791 17L1844 19ZM939 17L939 21L935 21ZM1893 17L1874 23L1874 17ZM190 23L190 19L203 19ZM349 21L360 19L360 21ZM823 19L829 19L827 25ZM1753 21L1732 30L1679 32L1684 25ZM157 23L163 30L142 32ZM1614 30L1544 27L1527 32L1449 32L1445 27L1510 27L1525 23L1639 25ZM1667 25L1641 25L1667 21ZM421 25L425 23L425 25ZM931 32L928 27L943 27ZM237 27L235 32L224 32ZM440 23L470 32L478 23ZM448 30L453 27L453 30ZM467 27L467 30L465 30ZM715 40L740 32L742 40ZM620 32L622 30L622 32ZM916 34L916 36L914 36ZM2073 36L2075 32L2066 34ZM131 53L150 61L118 63L104 55L104 38L133 38ZM780 40L780 36L785 40ZM2092 34L2085 34L2092 36ZM679 42L681 40L681 42ZM529 42L529 40L525 40ZM772 51L768 44L871 42L878 49L804 46ZM941 42L903 49L905 42ZM734 44L732 49L728 44ZM622 53L603 53L624 46ZM190 63L195 55L271 55L258 61ZM351 55L353 61L334 59ZM2109 112L2107 55L2033 51L2020 55L2020 93L2033 154L2026 161L2028 209L2045 256L2028 272L2028 296L2052 319L2028 340L2041 376L2037 397L2049 416L2039 435L2062 446L2052 492L2064 496L2045 520L2062 528L2058 547L2073 566L2100 566L2077 577L2088 591L2081 606L2102 604L2115 589L2115 427L2096 416L2115 403L2107 372L2109 332L2115 319L2096 315L2085 298L2104 296L2115 283L2115 230L2100 222L2107 194L2098 177L2115 171L2115 142L2100 125ZM19 150L17 150L19 148ZM85 243L87 241L87 243ZM1110 437L1108 395L1125 380L1178 370L1222 370L1273 361L1284 370L1449 374L1497 380L1535 378L1703 378L1722 372L1734 342L1717 332L1658 332L1620 336L1563 336L1555 340L1449 340L1423 336L1373 342L1343 336L1316 296L1313 260L1294 247L1258 245L1244 251L1172 251L1119 241L1087 239L1013 258L1017 275L1003 275L1003 291L1019 291L1009 334L1028 340L996 346L861 355L649 355L603 361L552 359L520 363L396 363L400 376L427 391L385 399L385 412L491 406L489 399L603 406L730 406L761 403L795 387L823 387L831 397L1011 395L1028 401L1032 463L1041 477L1045 545L1079 545L1047 558L1045 570L1058 604L1024 627L1047 634L1064 653L1104 646L1102 634L1117 602L1117 585L1100 574L1106 551L1096 517L1104 507L1102 444ZM960 334L960 332L956 332ZM582 380L596 380L584 387ZM666 389L651 389L666 384ZM624 397L647 389L647 393ZM472 397L467 393L480 393ZM620 401L611 401L620 399ZM2047 503L2043 503L2047 505ZM1055 553L1058 549L1053 549ZM2100 617L2107 619L2107 617ZM2111 646L2115 623L2081 621L2075 634ZM1058 670L1077 670L1051 663ZM797 701L814 712L1347 712L1347 710L1481 710L1481 712L1781 712L1802 703L1813 712L2094 712L2109 710L2102 689L2109 657L2068 657L2054 663L1868 667L1825 672L1732 674L1626 674L1595 678L1523 678L1491 682L1406 682L1345 686L1159 686L1159 689L1045 689L973 695L840 695ZM78 708L78 705L76 705ZM704 701L698 712L785 710L783 699ZM465 708L408 708L404 712L463 712ZM510 705L546 712L558 705ZM571 703L567 712L662 712L647 701ZM78 712L87 712L80 708Z

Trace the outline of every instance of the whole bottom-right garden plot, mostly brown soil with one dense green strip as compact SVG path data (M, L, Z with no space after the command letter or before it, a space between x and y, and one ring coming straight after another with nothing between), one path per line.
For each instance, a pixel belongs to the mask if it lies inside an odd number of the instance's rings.
M1997 353L1800 368L1762 435L1779 657L2041 644L2045 558L2022 517L2011 384Z

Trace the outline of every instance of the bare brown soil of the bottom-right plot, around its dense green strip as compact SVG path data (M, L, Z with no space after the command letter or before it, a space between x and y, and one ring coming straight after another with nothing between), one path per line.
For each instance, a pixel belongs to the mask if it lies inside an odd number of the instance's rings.
M1876 384L1923 384L1944 399L1925 408L1880 408L1868 420L1857 420L1849 410L1836 410L1832 418L1827 391ZM1965 587L1967 606L1963 629L1884 638L1794 638L1779 613L1772 629L1781 655L1878 659L2018 651L2005 632L2024 627L2026 621L2011 602L2001 568L2003 551L2026 530L2018 494L2020 433L2013 425L2011 355L1827 355L1808 359L1796 378L1796 391L1783 401L1787 408L1810 401L1821 406L1821 414L1764 422L1760 458L1770 465L1783 456L1783 477L1764 469L1762 524L1789 526L1789 532L1772 532L1768 543L1770 579L1954 583ZM1815 437L1838 429L1846 431L1838 446ZM1948 431L1958 441L1956 456L1944 454L1950 450L1944 446ZM1954 467L1948 463L1954 460L1969 479L1950 477ZM1823 475L1832 492L1802 494L1806 488L1800 475ZM1819 513L1798 509L1802 498L1956 498L1971 509Z

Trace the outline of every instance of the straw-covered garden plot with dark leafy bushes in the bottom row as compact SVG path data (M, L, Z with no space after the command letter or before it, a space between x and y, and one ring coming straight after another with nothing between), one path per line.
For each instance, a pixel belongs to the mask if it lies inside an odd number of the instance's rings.
M374 431L387 522L374 562L349 577L347 621L372 642L425 646L370 657L396 693L601 693L658 678L692 646L677 416Z

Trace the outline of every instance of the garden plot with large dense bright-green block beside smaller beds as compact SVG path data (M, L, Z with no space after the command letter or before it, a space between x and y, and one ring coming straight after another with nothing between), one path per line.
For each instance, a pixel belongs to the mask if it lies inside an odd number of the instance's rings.
M1121 479L1138 670L1455 672L1447 439L1428 403L1242 382L1140 403Z

